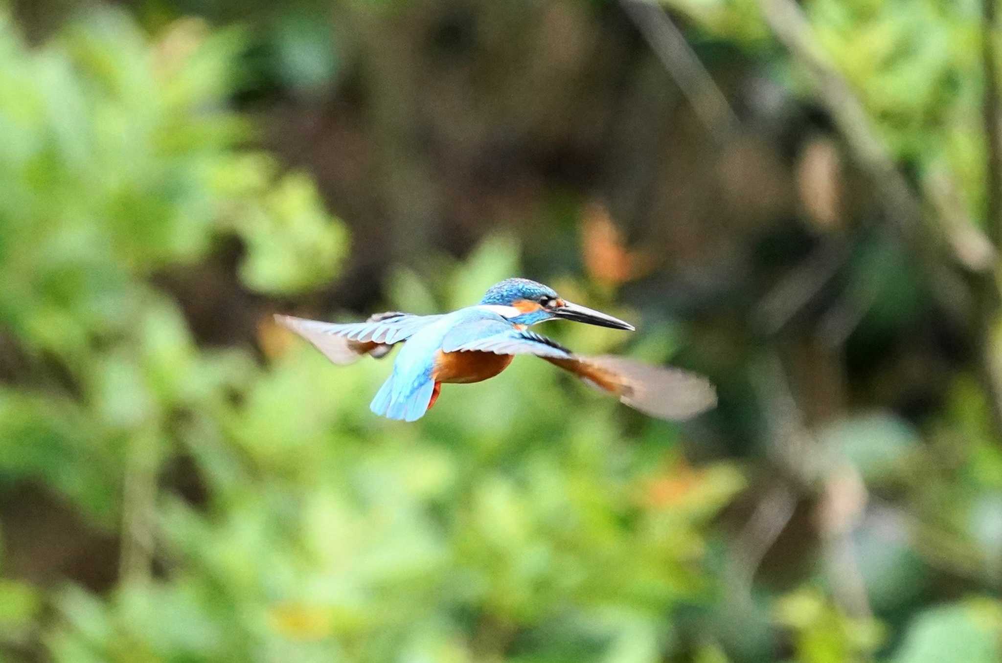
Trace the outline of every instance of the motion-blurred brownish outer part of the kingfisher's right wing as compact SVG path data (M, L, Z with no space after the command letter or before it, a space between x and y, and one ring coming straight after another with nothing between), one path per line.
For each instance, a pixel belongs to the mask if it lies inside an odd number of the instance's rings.
M708 380L679 369L642 364L623 357L549 359L595 389L658 419L691 419L716 405Z

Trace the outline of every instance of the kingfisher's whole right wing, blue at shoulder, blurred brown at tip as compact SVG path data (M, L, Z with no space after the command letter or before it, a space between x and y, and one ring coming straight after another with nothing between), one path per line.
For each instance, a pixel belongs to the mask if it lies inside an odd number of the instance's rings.
M622 357L579 357L555 341L505 322L484 321L479 328L473 324L476 323L460 325L450 332L442 345L443 352L535 355L573 373L600 392L616 396L625 405L658 419L689 419L716 405L713 386L705 378L685 371Z

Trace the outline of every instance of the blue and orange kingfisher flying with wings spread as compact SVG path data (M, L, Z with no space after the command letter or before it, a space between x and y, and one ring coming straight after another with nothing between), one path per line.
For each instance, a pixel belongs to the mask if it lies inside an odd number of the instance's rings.
M569 371L589 386L647 415L666 420L694 417L716 404L704 378L678 369L622 357L582 357L528 327L567 319L632 332L623 320L572 303L528 278L492 285L480 303L450 313L415 315L388 311L364 322L334 323L276 314L283 326L309 341L331 362L347 365L368 355L382 359L403 344L393 373L370 410L413 422L435 405L444 384L493 378L516 355L533 355Z

